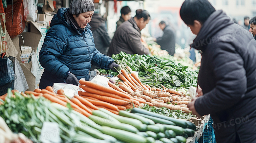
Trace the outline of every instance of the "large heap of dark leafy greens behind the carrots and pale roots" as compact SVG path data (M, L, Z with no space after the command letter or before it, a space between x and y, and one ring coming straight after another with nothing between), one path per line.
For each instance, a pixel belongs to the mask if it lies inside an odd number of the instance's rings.
M164 85L167 88L189 88L197 86L197 71L187 69L187 66L181 66L172 60L162 60L156 56L126 54L120 52L113 55L114 60L125 62L133 71L139 73L141 82L148 85L161 88ZM111 73L111 70L99 70L102 73ZM113 73L117 75L117 73Z

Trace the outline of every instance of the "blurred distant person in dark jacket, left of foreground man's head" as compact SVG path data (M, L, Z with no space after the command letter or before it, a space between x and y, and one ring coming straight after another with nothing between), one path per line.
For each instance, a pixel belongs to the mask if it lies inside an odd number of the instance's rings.
M158 37L155 41L161 46L162 50L166 50L170 55L175 53L175 30L166 25L164 21L159 23L159 27L163 30L162 37Z

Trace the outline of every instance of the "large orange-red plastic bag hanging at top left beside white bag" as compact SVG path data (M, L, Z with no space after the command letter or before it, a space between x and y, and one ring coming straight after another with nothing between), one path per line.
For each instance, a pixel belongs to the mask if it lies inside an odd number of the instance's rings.
M7 5L6 11L6 30L11 38L21 34L25 29L24 7L23 0L17 0L13 3L13 10L11 5ZM11 14L13 11L13 15Z

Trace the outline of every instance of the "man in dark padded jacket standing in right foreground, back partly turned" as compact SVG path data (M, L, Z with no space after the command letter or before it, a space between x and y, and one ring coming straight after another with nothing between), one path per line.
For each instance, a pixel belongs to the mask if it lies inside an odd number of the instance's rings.
M256 41L207 0L185 0L181 19L197 35L191 47L201 50L199 98L192 114L210 114L218 143L256 140Z

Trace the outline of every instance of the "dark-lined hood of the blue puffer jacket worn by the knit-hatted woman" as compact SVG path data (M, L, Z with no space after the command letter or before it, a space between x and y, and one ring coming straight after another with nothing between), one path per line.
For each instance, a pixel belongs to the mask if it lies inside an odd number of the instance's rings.
M58 25L58 24L63 24L65 27L68 27L69 29L74 29L76 31L80 31L80 30L88 30L89 28L91 28L91 26L89 25L89 23L87 24L87 26L84 29L76 29L74 25L71 24L71 22L69 20L66 20L65 18L65 14L66 12L69 11L69 8L60 8L57 11L57 14L54 14L53 19L51 21L51 27L53 27L54 25Z

